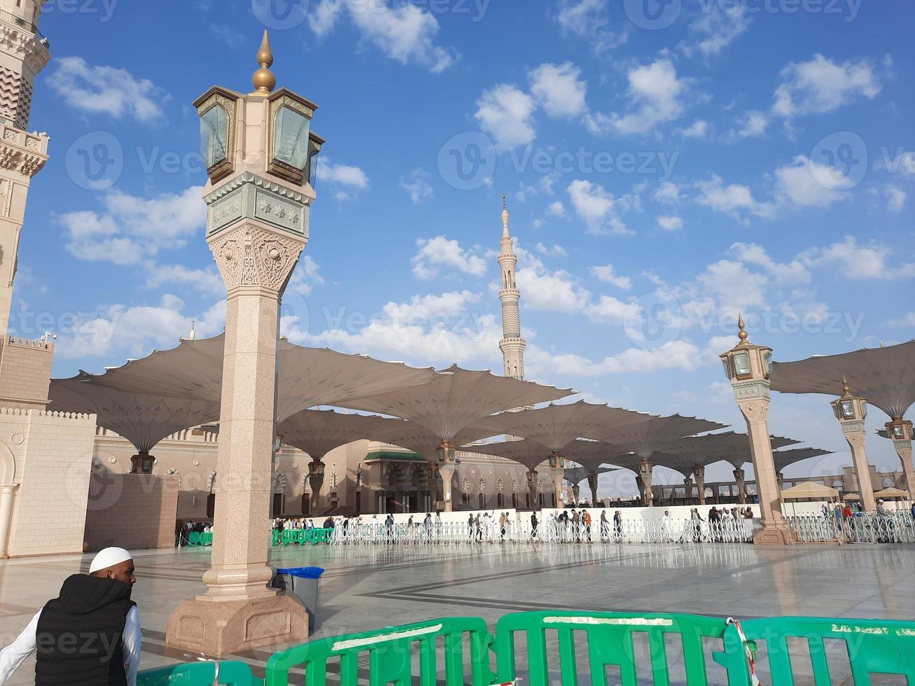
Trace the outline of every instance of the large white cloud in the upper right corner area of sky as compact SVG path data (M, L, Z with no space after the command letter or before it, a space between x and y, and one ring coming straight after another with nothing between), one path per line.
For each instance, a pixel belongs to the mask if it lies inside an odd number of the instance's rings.
M816 54L806 62L791 62L781 70L772 112L783 117L834 112L857 97L872 100L880 79L867 59L842 64Z

